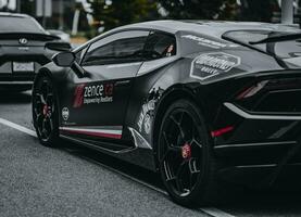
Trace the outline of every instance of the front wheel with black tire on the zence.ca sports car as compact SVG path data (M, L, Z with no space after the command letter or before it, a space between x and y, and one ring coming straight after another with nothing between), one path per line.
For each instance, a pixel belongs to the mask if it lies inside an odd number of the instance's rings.
M58 146L59 111L55 89L48 76L41 76L33 88L33 120L40 143Z

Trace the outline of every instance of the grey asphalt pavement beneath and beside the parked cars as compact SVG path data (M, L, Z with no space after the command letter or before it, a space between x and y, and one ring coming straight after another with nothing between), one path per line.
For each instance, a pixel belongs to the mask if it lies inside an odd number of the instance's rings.
M0 92L0 217L301 216L301 192L286 189L234 191L223 206L188 209L156 174L70 142L45 148L32 130L30 92Z

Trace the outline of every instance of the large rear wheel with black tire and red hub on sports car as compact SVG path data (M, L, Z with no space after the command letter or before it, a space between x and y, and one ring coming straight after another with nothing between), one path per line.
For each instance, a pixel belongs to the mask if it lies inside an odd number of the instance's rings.
M178 100L165 112L159 133L158 162L174 202L187 207L216 202L217 164L204 118L190 101Z

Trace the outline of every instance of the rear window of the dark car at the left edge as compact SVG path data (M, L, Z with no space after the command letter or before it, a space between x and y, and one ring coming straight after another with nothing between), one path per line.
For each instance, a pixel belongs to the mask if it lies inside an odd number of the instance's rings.
M46 34L34 18L16 16L0 16L0 33Z

